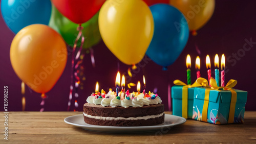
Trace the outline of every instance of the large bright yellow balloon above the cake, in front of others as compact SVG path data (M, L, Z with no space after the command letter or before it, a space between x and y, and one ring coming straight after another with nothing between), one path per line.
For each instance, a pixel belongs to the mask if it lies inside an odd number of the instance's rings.
M108 0L99 12L99 30L110 51L131 65L144 57L153 37L154 20L142 0Z

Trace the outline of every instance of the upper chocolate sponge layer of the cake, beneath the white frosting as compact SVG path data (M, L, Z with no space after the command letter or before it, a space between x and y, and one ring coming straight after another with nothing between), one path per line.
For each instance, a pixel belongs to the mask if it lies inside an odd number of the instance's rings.
M157 115L164 112L164 105L150 105L143 107L103 107L101 105L86 103L83 105L83 112L92 116L103 116L103 117L138 117L147 115Z

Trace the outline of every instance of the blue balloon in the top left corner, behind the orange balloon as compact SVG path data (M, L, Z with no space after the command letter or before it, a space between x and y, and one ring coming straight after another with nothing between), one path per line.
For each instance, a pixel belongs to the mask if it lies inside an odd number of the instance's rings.
M19 30L40 23L48 25L51 17L50 0L2 0L1 12L6 25L16 34Z

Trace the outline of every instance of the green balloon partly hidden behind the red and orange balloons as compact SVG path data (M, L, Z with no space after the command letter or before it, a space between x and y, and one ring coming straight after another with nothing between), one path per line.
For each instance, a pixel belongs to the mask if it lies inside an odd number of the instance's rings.
M90 20L82 23L82 33L84 36L83 48L87 49L101 40L98 24L99 12L95 14ZM78 24L70 21L67 17L63 16L54 6L52 6L52 15L49 22L49 26L57 31L63 39L73 46L75 39L78 35ZM77 47L81 44L81 38L77 42Z

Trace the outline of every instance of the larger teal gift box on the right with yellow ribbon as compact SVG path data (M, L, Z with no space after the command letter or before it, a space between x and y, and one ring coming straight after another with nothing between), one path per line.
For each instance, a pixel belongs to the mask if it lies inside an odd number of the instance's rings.
M232 82L228 84L226 87L196 87L193 119L217 125L243 123L247 91L230 88L236 85Z

